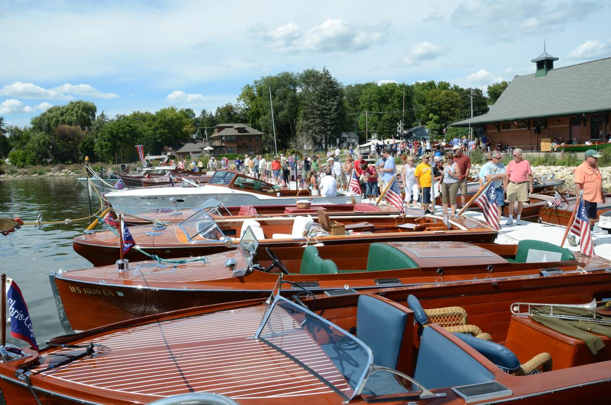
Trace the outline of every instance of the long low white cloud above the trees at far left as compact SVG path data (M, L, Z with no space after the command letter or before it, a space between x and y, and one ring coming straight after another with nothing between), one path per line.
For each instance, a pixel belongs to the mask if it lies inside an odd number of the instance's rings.
M16 81L13 84L5 84L0 89L0 95L10 95L19 98L51 98L52 100L73 100L71 94L94 97L94 98L119 98L119 95L113 93L103 93L96 90L89 84L70 84L65 83L62 86L54 87L53 89L45 89L37 86L34 83L22 83Z

